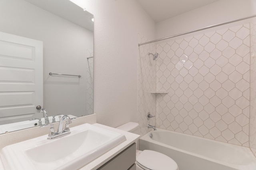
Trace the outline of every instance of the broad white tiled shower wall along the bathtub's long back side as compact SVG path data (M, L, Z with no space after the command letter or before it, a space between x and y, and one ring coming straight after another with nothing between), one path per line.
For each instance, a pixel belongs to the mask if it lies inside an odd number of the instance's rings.
M156 127L249 147L250 23L178 37L156 52L156 91L169 92L156 95Z

